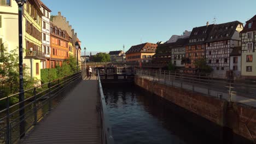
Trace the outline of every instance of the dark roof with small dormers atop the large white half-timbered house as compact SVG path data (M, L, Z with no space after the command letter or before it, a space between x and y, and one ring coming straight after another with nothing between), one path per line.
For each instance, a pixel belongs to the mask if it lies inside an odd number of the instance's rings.
M231 39L239 24L243 23L239 21L232 21L214 25L212 31L208 35L208 38L206 39L205 42L209 43L212 41L222 41Z

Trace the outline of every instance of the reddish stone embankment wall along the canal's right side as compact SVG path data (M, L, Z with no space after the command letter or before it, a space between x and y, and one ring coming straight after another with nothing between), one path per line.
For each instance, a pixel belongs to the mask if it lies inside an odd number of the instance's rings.
M256 143L256 109L136 76L137 86Z

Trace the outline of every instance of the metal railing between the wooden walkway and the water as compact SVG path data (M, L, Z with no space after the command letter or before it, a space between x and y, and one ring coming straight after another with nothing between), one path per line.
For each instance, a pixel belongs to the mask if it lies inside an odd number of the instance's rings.
M101 116L101 137L103 144L113 144L114 139L112 136L112 130L109 123L108 111L106 106L106 101L103 94L103 89L101 85L100 72L97 70L97 80L98 80L98 93L100 97L100 116Z

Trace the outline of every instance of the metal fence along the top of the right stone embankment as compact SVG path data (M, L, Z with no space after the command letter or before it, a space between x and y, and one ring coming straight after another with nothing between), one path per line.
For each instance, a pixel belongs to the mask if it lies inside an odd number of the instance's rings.
M207 74L187 74L167 70L136 70L136 74L172 87L256 107L255 81L213 79Z

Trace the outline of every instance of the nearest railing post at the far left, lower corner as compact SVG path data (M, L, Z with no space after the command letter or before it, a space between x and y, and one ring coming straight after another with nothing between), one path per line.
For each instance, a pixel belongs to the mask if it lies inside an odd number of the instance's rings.
M6 140L5 143L9 144L11 143L11 128L10 128L10 101L9 101L9 97L7 97L7 101L6 101L6 107L7 107L7 112L6 112Z

